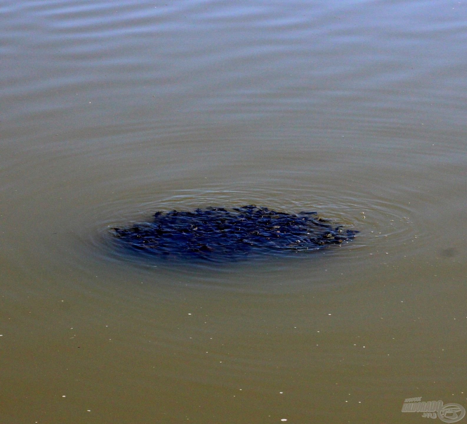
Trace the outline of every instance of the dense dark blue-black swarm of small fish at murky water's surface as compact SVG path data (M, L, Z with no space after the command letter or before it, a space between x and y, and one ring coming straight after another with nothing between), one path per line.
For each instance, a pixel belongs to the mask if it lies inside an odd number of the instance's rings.
M156 212L152 222L113 228L116 240L131 250L212 261L311 252L346 243L355 233L317 212L284 213L255 205Z

